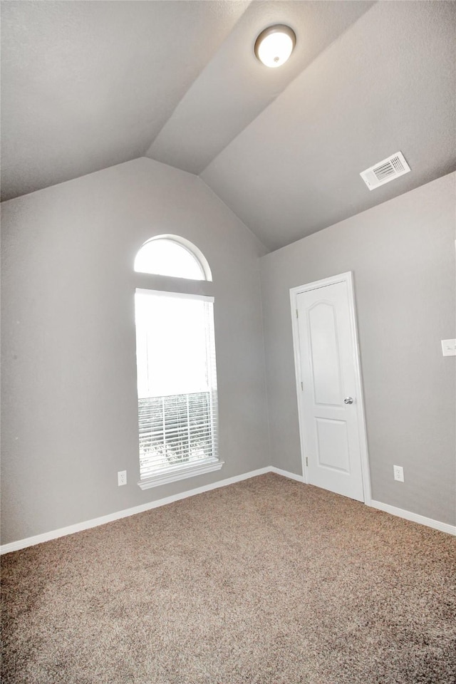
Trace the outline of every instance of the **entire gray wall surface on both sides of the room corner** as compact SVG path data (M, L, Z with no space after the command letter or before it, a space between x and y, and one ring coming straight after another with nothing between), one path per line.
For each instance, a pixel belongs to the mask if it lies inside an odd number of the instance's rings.
M201 180L152 160L4 202L2 543L248 472L271 454L301 472L289 288L348 270L373 497L454 524L456 359L440 351L456 336L454 229L455 174L266 256ZM142 492L133 259L163 232L197 244L212 268L226 464Z

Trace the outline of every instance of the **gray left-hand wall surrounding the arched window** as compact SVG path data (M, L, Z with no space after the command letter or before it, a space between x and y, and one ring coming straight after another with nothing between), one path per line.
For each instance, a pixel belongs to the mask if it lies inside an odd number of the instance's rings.
M270 462L265 250L201 180L142 158L4 202L2 232L3 544ZM133 259L160 233L194 242L212 269L225 465L142 492Z

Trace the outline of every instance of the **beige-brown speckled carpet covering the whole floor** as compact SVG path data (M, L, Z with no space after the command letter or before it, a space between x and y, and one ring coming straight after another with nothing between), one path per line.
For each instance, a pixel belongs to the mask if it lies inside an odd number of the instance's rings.
M2 682L455 684L455 556L264 475L4 556Z

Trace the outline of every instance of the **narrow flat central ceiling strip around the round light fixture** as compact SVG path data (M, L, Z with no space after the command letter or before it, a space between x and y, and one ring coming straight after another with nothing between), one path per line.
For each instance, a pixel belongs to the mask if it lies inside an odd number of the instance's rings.
M147 157L201 173L240 131L373 2L252 2L147 150ZM254 41L272 24L293 26L293 59L262 66Z

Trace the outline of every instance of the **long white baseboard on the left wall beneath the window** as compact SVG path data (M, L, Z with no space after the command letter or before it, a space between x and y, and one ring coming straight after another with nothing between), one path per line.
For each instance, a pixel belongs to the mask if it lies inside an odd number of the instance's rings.
M242 475L234 475L234 477L227 477L226 480L219 480L218 482L212 482L212 484L204 484L202 487L196 487L195 489L187 489L186 492L180 492L180 494L173 494L172 497L165 497L164 499L150 501L147 504L140 504L140 506L127 508L123 511L117 511L115 513L110 513L108 515L103 515L100 518L93 518L92 520L78 522L75 525L69 525L68 527L53 529L51 530L51 532L43 532L43 534L36 534L34 537L27 537L27 539L11 541L9 544L3 544L2 546L0 546L0 554L9 554L11 551L19 551L19 549L25 549L27 546L35 546L35 544L42 544L43 541L51 541L51 539L58 539L58 537L66 537L67 534L75 534L76 532L82 532L83 529L90 529L90 527L98 527L98 525L105 525L107 522L113 522L114 520L119 520L120 518L126 518L130 515L135 515L137 513L149 511L152 508L158 508L160 506L165 506L166 504L172 504L172 502L180 501L180 499L187 499L187 497L193 497L195 496L195 494L209 492L210 489L227 487L228 484L234 484L234 482L248 480L250 477L257 477L257 475L264 475L264 473L266 472L271 472L270 466L259 468L259 470L244 472L242 473Z

